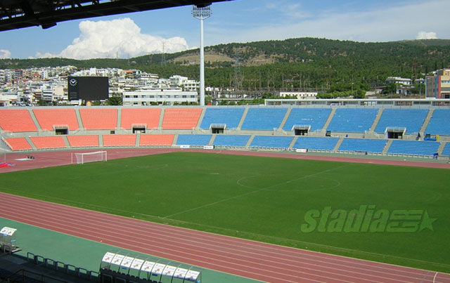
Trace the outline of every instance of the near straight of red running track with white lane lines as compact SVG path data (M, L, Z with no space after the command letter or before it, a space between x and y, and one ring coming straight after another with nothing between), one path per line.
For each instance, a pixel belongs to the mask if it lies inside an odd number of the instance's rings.
M13 221L266 282L450 282L446 273L176 228L1 192L0 207L0 217Z

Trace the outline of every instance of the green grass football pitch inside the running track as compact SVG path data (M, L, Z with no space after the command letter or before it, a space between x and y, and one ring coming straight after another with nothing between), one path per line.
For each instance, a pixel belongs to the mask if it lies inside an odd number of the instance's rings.
M2 173L0 183L84 209L450 272L446 169L174 152Z

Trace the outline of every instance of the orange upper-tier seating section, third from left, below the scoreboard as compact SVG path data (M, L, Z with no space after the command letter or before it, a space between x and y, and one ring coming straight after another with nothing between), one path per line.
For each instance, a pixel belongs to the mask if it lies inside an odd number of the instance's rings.
M117 108L81 108L79 114L86 130L114 130L117 126Z

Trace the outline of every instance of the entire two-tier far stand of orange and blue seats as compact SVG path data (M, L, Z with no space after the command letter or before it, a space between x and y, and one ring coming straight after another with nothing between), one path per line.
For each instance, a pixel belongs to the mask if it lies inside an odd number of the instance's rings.
M5 132L2 131L2 136L7 145L5 145L6 148L9 147L13 151L18 151L33 150L34 147L39 150L66 147L135 147L136 142L139 142L139 146L210 145L212 135L203 134L205 129L210 129L211 124L226 124L226 129L237 129L245 113L245 107L36 107L31 109L32 112L29 109L0 110L0 126L1 130ZM384 108L383 114L379 115L380 120L375 132L384 133L387 127L393 127L406 128L407 133L411 134L411 136L406 136L404 140L392 139L392 144L387 143L385 138L355 138L362 136L359 134L353 135L352 138L343 138L347 133L369 131L375 117L377 117L378 108L336 107L335 109L333 119L331 119L332 107L292 107L288 117L286 115L287 107L248 107L241 128L242 130L255 131L250 133L231 131L230 133L233 134L217 134L214 135L212 145L217 147L245 147L249 140L252 140L250 143L252 148L284 150L288 149L295 139L293 150L333 151L336 149L338 152L378 154L385 150L387 154L432 156L442 149L439 145L446 143L445 146L442 145L444 147L442 155L450 156L450 143L447 137L440 139L442 143L439 143L439 141L413 140L413 138L416 138L417 131L424 129L423 123L428 114L430 122L425 133L450 136L450 123L448 122L450 120L450 109L448 108L435 108L432 113L429 112L428 108L423 107ZM119 113L118 110L121 112ZM203 110L205 111L203 119L199 123ZM79 111L82 123L77 119L77 111ZM164 111L163 117L162 111ZM162 121L160 121L161 117ZM129 133L128 131L120 131L120 134L116 135L98 136L102 133L90 131L117 129L118 118L120 118L120 128L124 130L132 129L133 125L143 126L143 124L146 124L147 129L158 129L160 122L162 122L162 129L158 130L158 134L142 133L139 136L121 134ZM267 135L267 133L258 132L260 130L272 131L278 129L284 118L286 118L283 125L284 131L291 131L294 125L310 125L310 131L320 131L326 121L330 119L327 130L339 133L333 135L333 138L319 137L319 135L314 134L310 136L285 136L285 133L282 132L274 133L271 136L256 136L257 134ZM79 129L82 124L82 129ZM201 129L198 129L198 131L172 131L178 129L193 130L198 124L200 124ZM43 136L38 133L41 129L52 131L54 126L63 125L67 125L70 130L78 130L71 136L66 136L68 143L63 136ZM24 138L25 135L30 138ZM255 135L255 137L251 139L251 135ZM340 138L336 138L336 136L340 136L342 143L338 143ZM369 135L369 137L372 136ZM103 143L101 143L102 138ZM174 140L176 140L175 143ZM387 144L390 144L389 148L387 148Z

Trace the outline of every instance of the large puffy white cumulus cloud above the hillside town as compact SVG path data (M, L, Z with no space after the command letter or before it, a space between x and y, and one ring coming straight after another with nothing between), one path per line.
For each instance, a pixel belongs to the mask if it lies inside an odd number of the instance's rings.
M59 54L37 53L37 57L63 57L75 59L129 58L148 53L174 53L188 49L186 39L163 39L142 34L130 18L84 20L79 23L79 37Z

